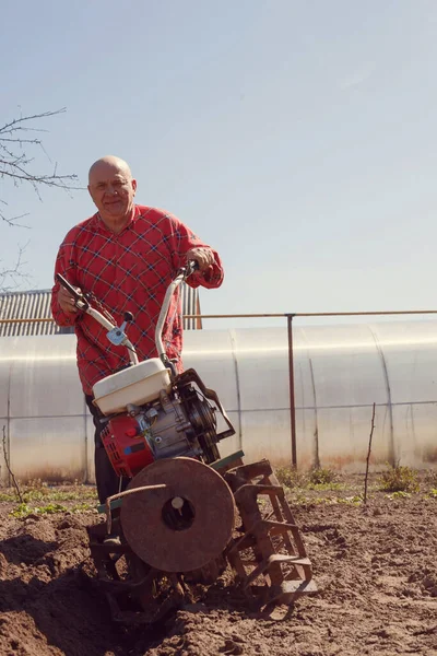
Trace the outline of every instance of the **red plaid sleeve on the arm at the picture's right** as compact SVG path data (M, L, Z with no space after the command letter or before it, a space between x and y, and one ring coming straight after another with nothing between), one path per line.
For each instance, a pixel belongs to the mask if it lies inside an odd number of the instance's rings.
M204 244L187 225L185 225L177 216L168 214L172 225L172 258L175 269L179 269L186 265L186 255L191 248L209 248L214 256L214 263L206 271L194 271L187 279L187 284L191 288L199 285L206 289L220 288L223 282L224 271L222 261L216 250Z

